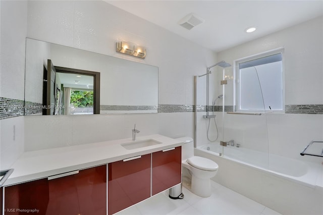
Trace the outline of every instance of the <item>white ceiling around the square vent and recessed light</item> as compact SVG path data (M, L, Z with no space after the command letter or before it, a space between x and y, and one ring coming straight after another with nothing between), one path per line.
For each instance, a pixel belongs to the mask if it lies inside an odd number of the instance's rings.
M199 45L219 52L322 16L323 1L109 1ZM205 22L187 30L178 22L194 13ZM253 33L244 30L257 26Z

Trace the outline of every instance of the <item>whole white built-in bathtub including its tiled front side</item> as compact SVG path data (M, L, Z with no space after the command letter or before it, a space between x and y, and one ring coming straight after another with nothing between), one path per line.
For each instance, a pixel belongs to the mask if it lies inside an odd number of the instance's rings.
M213 181L282 214L323 214L323 159L303 162L220 143L194 148L194 155L218 163Z

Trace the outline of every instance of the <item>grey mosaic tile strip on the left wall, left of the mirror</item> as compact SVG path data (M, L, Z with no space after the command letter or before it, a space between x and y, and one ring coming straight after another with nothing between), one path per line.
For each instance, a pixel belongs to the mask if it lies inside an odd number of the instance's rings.
M24 116L24 101L0 97L0 120Z

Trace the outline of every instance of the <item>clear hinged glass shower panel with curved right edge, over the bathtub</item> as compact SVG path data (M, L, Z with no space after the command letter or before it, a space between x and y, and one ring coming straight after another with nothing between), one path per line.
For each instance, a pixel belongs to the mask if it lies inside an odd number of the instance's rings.
M232 70L232 69L231 69ZM255 67L236 71L223 88L223 154L250 165L268 167L268 134L261 84ZM228 79L223 71L223 78ZM248 106L241 110L241 105ZM240 111L236 111L240 110ZM226 145L224 144L224 145Z

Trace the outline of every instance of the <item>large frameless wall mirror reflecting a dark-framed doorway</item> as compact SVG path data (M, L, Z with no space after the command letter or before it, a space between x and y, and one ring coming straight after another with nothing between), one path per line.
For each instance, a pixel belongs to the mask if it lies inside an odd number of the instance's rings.
M48 59L59 69L51 88ZM77 71L93 71L98 80ZM81 94L83 101L75 100ZM93 100L87 97L91 94ZM25 105L25 115L157 113L158 68L27 38Z

